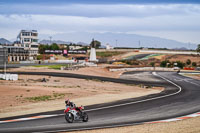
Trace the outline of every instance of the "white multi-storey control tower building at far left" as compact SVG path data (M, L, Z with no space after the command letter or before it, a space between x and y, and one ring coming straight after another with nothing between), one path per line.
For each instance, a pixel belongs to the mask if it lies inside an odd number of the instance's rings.
M17 36L17 46L24 47L28 51L29 60L36 59L38 54L38 32L37 30L21 30Z

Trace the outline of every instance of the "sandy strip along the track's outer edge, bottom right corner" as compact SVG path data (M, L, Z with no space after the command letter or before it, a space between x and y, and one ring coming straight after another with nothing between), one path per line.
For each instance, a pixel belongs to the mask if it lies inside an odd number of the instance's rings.
M160 124L77 131L74 133L200 133L200 117Z

